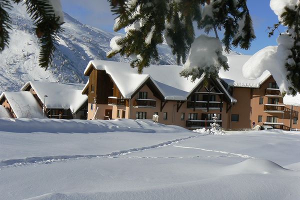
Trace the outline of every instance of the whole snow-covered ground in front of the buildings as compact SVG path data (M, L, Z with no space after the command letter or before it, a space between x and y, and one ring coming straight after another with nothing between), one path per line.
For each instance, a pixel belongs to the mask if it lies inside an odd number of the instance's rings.
M300 132L0 119L0 199L299 199Z

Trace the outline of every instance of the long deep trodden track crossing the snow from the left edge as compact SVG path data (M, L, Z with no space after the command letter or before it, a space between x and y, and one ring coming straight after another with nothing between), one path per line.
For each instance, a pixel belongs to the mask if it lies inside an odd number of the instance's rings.
M126 155L131 152L149 150L149 149L153 149L153 148L171 145L172 143L178 143L179 141L183 141L183 140L198 137L198 136L202 136L202 135L188 136L188 137L184 137L184 138L169 140L169 141L162 142L159 144L154 144L151 146L131 148L131 149L127 149L127 150L120 150L117 152L112 152L112 153L108 153L108 154L100 154L100 155L53 155L53 156L26 157L23 159L7 159L7 160L0 161L0 169L3 167L21 166L21 165L26 165L26 164L47 164L47 163L52 163L52 162L57 162L57 161L68 160L68 159L92 158L92 157L96 157L96 158L115 157L118 155Z

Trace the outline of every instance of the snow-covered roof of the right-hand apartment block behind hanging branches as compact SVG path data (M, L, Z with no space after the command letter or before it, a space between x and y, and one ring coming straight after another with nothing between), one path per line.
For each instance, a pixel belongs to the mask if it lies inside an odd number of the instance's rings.
M226 54L228 59L229 70L219 71L219 77L227 84L237 87L259 87L268 77L271 76L268 70L265 70L260 77L250 80L243 76L242 66L251 57L251 55Z

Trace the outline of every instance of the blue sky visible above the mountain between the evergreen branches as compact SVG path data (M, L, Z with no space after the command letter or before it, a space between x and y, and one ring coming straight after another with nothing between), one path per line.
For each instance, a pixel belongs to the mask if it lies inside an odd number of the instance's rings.
M100 29L112 32L114 15L110 12L106 0L61 0L62 9L82 23L86 23ZM247 0L256 39L250 49L235 49L243 54L254 54L267 45L276 45L275 35L268 37L266 28L276 23L278 18L269 7L269 0Z

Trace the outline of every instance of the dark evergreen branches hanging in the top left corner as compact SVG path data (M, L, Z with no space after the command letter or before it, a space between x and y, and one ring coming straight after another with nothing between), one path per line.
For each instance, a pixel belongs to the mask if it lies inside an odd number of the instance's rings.
M12 3L21 2L26 5L39 38L39 66L47 69L52 61L57 35L62 31L60 17L55 15L49 0L0 0L0 52L9 44L11 21L6 10L12 7Z

